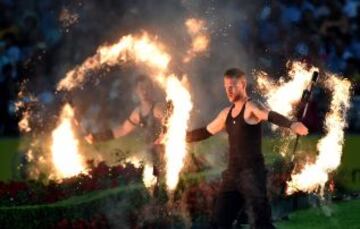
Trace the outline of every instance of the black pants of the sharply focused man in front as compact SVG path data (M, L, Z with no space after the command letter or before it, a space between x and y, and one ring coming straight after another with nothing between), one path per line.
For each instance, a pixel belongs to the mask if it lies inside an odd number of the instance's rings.
M217 228L231 228L239 212L245 210L250 227L271 229L271 208L266 197L266 172L263 168L240 172L225 171L215 203Z

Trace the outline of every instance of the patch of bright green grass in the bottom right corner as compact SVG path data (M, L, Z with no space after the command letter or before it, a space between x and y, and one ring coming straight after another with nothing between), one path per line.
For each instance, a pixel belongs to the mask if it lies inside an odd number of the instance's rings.
M292 213L290 220L281 221L276 225L279 229L359 229L360 200L300 210Z

